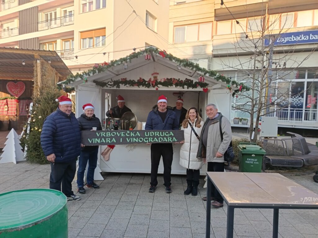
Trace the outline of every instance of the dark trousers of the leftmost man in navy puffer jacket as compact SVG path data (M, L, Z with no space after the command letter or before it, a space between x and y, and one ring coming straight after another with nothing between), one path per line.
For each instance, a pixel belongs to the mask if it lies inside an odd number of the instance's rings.
M75 172L75 159L69 163L51 163L50 188L62 191L66 197L73 195L72 181L74 179Z

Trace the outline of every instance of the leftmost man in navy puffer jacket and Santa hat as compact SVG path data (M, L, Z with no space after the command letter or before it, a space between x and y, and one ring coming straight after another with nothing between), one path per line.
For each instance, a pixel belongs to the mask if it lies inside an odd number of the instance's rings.
M81 134L79 123L72 112L72 101L60 96L59 108L45 118L41 132L41 147L51 162L50 188L61 191L67 200L78 201L72 181L76 172L76 160L80 154Z

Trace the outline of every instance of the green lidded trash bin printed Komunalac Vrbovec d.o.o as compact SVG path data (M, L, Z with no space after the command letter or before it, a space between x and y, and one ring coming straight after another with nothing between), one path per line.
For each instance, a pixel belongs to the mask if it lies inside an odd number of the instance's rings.
M239 148L239 171L260 173L262 172L263 156L266 151L255 143L240 143Z

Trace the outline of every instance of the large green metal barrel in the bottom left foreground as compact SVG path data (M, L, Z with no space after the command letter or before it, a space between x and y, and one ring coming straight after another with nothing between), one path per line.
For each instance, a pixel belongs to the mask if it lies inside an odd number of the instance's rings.
M0 194L0 238L67 238L66 201L52 189Z

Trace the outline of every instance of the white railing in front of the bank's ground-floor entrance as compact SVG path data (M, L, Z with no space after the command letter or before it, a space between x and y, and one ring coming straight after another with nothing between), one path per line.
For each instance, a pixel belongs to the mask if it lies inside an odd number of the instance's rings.
M286 108L271 112L268 116L277 116L284 122L317 122L317 109Z

